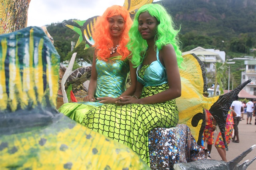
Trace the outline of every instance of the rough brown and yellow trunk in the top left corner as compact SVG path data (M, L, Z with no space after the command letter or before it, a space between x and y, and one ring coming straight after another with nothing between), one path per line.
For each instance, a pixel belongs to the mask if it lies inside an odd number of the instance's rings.
M25 28L30 0L0 0L0 34Z

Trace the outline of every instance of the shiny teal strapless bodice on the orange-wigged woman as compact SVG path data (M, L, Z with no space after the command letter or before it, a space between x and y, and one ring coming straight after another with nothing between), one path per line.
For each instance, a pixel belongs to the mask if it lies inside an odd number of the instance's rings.
M95 98L117 98L126 90L129 61L122 56L111 57L108 61L96 59L97 85Z

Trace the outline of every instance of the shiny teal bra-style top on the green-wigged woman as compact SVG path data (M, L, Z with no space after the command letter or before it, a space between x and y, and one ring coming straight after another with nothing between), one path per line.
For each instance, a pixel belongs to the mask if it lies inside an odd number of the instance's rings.
M156 51L156 61L153 61L147 68L144 68L144 77L141 78L138 72L142 64L137 67L137 80L144 86L160 86L168 83L166 69L159 60L159 51Z

